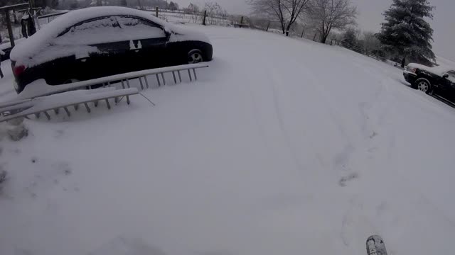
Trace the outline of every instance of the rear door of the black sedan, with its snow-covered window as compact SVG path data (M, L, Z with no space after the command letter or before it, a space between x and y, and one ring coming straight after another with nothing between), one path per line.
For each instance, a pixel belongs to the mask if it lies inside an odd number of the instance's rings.
M53 41L56 49L66 50L72 61L60 65L71 69L74 79L94 79L122 72L122 58L129 41L122 37L117 16L92 18L75 24Z

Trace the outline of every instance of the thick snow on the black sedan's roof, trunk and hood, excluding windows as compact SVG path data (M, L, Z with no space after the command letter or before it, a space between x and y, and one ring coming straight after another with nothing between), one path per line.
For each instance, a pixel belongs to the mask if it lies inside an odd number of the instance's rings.
M25 40L20 45L16 45L14 50L11 51L11 60L21 60L26 62L27 59L33 58L34 55L38 54L45 47L50 45L50 42L62 33L65 29L73 26L82 21L86 21L92 18L98 18L103 16L114 16L114 15L130 15L146 18L154 23L157 23L164 28L171 28L176 33L185 33L182 28L171 26L171 24L161 21L161 19L153 16L153 13L148 11L140 11L134 8L118 7L118 6L100 6L83 8L75 11L70 11L64 15L56 18L53 22L49 23L39 30L35 35L32 35L28 40ZM173 36L171 41L183 41L183 40L202 40L209 42L205 35L198 33L191 37L187 36ZM210 42L209 42L210 43Z

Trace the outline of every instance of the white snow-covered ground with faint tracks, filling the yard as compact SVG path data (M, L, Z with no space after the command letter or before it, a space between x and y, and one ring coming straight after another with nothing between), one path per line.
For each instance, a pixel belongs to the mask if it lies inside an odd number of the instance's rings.
M215 59L144 91L155 107L1 140L0 254L365 255L370 234L390 255L454 251L453 108L341 47L193 28Z

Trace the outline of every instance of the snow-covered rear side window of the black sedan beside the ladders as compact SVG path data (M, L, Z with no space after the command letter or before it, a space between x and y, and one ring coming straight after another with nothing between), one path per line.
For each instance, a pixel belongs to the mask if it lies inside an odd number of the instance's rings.
M122 28L115 16L90 19L77 23L55 38L56 45L94 45L118 42Z

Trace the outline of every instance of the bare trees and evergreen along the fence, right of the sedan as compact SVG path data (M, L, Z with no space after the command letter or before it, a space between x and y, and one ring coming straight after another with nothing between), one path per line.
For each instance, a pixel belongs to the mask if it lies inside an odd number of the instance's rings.
M284 35L299 25L314 30L314 39L326 43L329 36L350 47L360 47L381 57L401 62L432 65L434 6L428 0L392 0L378 33L356 29L358 11L350 0L247 0L257 20L279 24ZM269 23L270 24L270 23ZM302 31L302 37L305 31Z

